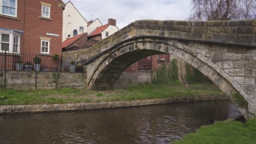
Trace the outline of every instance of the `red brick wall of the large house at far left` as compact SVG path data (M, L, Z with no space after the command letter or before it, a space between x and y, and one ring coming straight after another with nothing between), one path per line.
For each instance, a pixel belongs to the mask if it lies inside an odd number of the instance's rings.
M50 18L40 19L42 5L40 2L50 3ZM50 54L61 55L62 44L62 15L63 9L58 7L59 0L26 0L18 1L17 17L20 20L0 17L0 27L25 31L21 35L20 51L40 53L40 37L51 38ZM59 37L46 35L46 33L59 34Z

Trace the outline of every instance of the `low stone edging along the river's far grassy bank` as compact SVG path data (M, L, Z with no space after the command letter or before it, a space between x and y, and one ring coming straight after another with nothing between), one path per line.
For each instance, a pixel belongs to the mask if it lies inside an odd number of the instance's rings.
M122 107L148 106L168 103L191 103L195 101L229 100L227 96L173 97L165 99L146 99L132 101L113 101L101 103L49 104L49 105L5 105L0 106L0 114L43 113L79 110L116 109Z

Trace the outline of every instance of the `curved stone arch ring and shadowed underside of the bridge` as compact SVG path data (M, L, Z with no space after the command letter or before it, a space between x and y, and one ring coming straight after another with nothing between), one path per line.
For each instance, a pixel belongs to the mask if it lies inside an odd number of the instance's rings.
M119 76L133 63L147 56L169 53L191 64L201 71L224 93L231 95L238 91L248 101L248 94L231 76L212 62L212 57L207 54L207 45L178 40L137 40L119 46L109 52L103 61L97 65L88 86L92 89L112 88ZM132 48L131 48L132 47ZM203 54L205 53L205 54ZM250 104L250 101L248 101ZM243 110L243 115L249 113ZM248 116L250 117L250 116Z

